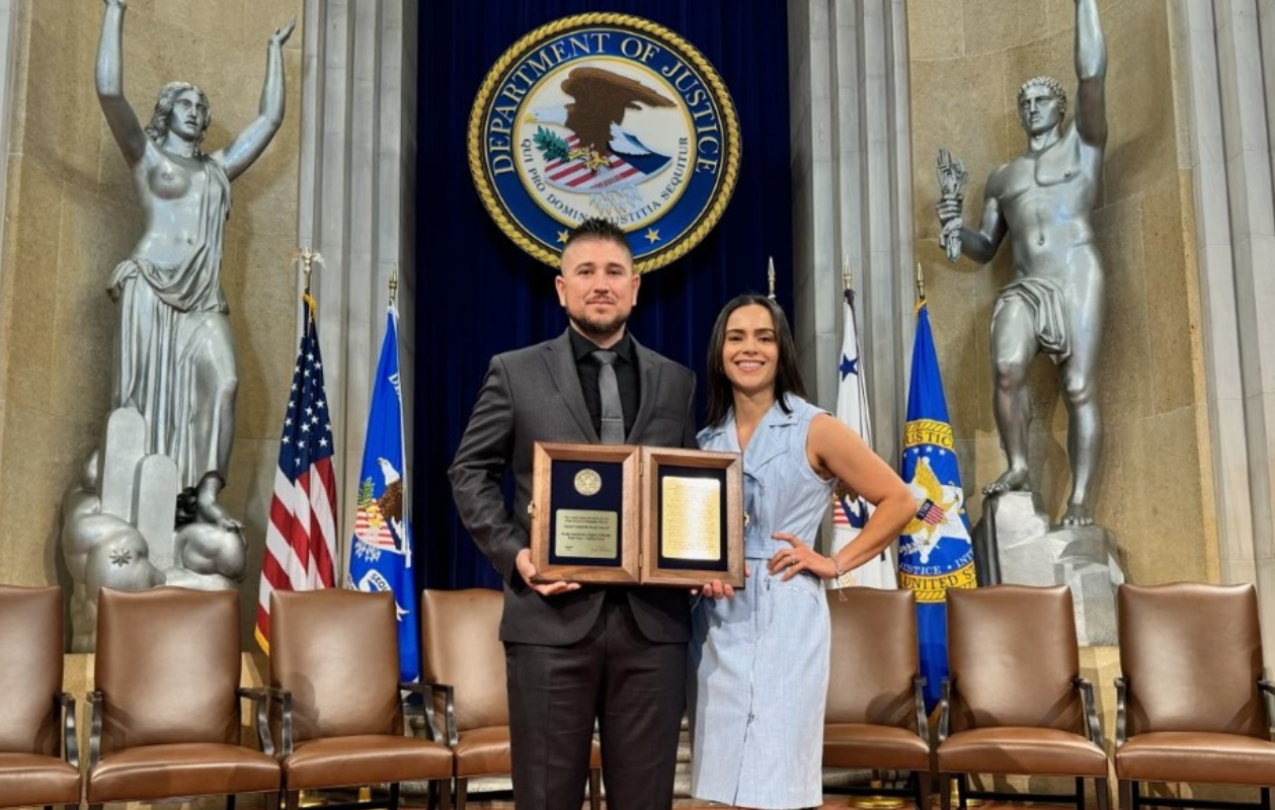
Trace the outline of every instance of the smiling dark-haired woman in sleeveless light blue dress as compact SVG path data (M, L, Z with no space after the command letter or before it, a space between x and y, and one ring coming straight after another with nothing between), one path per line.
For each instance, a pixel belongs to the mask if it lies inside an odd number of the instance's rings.
M817 807L830 647L824 580L880 554L917 503L859 436L806 402L774 301L725 305L708 369L699 444L743 453L751 578L733 598L704 598L695 610L691 793L737 807ZM854 542L826 557L810 543L838 478L876 510Z

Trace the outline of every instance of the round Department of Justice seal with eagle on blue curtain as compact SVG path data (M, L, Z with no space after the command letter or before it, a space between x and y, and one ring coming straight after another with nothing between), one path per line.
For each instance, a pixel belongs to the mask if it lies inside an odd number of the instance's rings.
M469 171L500 230L556 264L590 217L629 232L639 273L722 218L740 173L740 121L722 78L639 17L578 14L519 40L469 114Z

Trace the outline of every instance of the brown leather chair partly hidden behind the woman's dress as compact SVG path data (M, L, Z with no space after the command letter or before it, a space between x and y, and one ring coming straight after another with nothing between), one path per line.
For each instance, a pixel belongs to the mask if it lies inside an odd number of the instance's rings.
M915 792L847 787L849 793L929 800L929 725L912 591L845 588L827 596L833 656L824 719L824 767L910 770Z

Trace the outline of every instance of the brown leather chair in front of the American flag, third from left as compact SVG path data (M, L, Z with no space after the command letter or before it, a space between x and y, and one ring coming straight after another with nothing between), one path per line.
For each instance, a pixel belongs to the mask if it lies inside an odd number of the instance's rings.
M393 594L358 591L275 591L270 594L270 686L283 702L283 787L295 810L298 792L389 783L441 782L450 805L451 751L404 735L398 617Z

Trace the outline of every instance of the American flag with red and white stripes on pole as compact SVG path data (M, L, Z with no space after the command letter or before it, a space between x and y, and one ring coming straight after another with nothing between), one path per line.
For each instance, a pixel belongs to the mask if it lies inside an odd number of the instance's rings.
M323 357L314 298L307 293L306 333L292 370L288 413L279 439L270 524L265 531L256 640L270 652L270 594L335 583L337 481L332 469L332 420L323 388Z

